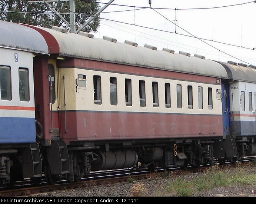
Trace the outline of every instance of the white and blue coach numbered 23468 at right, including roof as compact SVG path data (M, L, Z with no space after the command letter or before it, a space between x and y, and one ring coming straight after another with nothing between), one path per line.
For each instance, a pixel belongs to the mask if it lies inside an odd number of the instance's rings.
M238 157L255 155L256 67L233 61L220 64L225 67L229 77L227 89L223 93L223 120L230 123L230 128L226 130L236 142L233 142L233 147L229 147L230 155L234 154L234 147L237 148Z

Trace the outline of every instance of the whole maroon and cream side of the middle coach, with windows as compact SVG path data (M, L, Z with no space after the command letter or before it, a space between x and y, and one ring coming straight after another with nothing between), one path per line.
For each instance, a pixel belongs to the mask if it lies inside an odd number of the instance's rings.
M66 141L222 136L220 79L81 61L60 68Z

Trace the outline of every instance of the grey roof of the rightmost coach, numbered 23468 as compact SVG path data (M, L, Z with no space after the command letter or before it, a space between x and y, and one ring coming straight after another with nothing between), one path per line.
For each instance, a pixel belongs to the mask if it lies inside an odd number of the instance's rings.
M218 61L219 62L219 61ZM222 64L226 71L227 76L232 81L245 81L256 83L256 67L255 66L247 66L243 63L235 63L233 61L219 62Z

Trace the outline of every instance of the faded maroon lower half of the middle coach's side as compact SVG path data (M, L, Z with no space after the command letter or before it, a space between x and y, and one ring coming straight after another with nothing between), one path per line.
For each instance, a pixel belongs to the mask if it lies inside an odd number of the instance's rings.
M66 132L60 115L61 138L67 142L222 135L221 115L69 111Z

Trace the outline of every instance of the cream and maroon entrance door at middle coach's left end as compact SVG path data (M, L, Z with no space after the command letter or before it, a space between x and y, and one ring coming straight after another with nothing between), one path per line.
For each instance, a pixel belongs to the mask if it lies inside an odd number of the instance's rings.
M49 108L50 108L50 129L51 138L60 137L59 128L59 105L58 105L58 90L57 90L57 71L56 63L48 64L48 81L49 81Z

